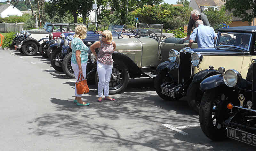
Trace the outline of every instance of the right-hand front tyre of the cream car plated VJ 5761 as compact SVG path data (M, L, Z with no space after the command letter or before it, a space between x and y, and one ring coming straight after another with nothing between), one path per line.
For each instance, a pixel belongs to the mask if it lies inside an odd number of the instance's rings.
M200 87L200 83L191 83L187 91L188 105L196 113L199 113L201 99L204 95L204 92L200 91L199 87Z

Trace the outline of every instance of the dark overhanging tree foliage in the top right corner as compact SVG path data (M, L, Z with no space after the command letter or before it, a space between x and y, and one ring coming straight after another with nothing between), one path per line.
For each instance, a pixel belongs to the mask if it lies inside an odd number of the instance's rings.
M225 3L226 9L231 11L234 16L242 18L243 21L252 22L256 18L256 3L255 0L222 0Z

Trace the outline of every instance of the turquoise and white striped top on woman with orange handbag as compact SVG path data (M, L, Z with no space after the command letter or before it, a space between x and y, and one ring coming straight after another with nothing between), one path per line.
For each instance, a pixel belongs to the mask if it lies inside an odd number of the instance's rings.
M81 51L81 64L87 64L88 61L88 47L84 44L84 42L80 38L74 38L71 41L71 49L72 49L72 57L71 61L74 64L77 64L76 62L76 50Z

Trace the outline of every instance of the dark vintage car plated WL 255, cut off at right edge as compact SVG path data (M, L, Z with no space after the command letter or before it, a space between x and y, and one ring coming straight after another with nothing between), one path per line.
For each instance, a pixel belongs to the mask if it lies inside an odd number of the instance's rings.
M250 53L255 54L255 33ZM256 146L256 61L248 56L244 69L220 67L219 74L204 79L200 90L199 122L204 134L212 140L227 137ZM233 62L230 63L235 63ZM243 78L244 77L244 78Z

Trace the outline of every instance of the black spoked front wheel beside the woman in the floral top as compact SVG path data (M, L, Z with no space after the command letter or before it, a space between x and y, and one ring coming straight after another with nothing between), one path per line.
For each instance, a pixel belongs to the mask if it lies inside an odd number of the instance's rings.
M116 75L118 75L116 77ZM113 68L111 78L109 81L109 94L118 94L125 90L130 80L130 74L124 63L115 61L113 62ZM98 72L95 73L95 84L98 87L99 76Z

